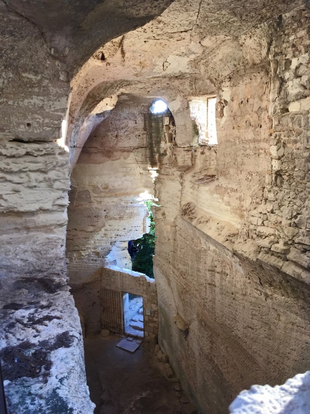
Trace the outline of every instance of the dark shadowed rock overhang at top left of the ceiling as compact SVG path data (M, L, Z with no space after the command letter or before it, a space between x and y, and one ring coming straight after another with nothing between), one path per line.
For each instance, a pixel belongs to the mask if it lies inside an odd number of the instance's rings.
M57 57L70 65L84 60L102 43L150 21L172 2L157 0L2 0L13 12L37 26ZM154 6L155 5L155 6Z

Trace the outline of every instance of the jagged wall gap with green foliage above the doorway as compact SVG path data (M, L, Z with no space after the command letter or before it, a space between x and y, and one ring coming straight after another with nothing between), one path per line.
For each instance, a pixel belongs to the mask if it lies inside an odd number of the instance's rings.
M146 274L148 277L154 279L153 272L153 255L155 254L155 221L154 215L152 213L151 207L154 204L152 200L145 201L145 205L149 212L150 217L150 231L149 233L143 234L141 238L136 240L136 245L139 248L138 253L136 254L132 262L132 270L135 272L141 272Z

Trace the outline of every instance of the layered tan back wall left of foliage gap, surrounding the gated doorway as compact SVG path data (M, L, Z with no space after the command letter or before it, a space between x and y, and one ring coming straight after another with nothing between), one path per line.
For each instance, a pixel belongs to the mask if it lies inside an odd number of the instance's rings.
M149 278L139 278L136 272L135 277L123 274L119 268L124 267L123 260L116 260L118 271L103 267L109 260L113 265L117 246L124 245L126 249L129 240L140 238L145 232L148 212L143 197L154 192L144 125L147 111L148 105L143 101L120 98L88 138L72 173L68 276L76 307L85 319L86 335L102 329L103 288L143 296L144 308L150 305L154 311L153 316L145 315L145 338L154 329L158 332L158 311L153 308L157 306L155 284L148 287Z

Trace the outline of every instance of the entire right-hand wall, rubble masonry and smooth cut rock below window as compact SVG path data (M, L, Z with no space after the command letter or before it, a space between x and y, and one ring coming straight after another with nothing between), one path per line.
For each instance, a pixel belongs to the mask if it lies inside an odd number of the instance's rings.
M202 412L227 412L243 388L309 366L308 92L297 70L307 13L279 22L271 75L264 61L218 85L217 146L169 147L160 159L160 345Z

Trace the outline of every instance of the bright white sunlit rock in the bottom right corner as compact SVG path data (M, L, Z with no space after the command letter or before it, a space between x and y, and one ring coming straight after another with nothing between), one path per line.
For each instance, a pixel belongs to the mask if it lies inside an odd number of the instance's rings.
M283 385L253 385L229 407L231 414L300 414L310 412L310 371Z

